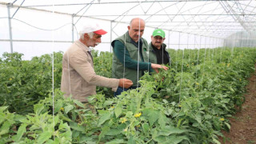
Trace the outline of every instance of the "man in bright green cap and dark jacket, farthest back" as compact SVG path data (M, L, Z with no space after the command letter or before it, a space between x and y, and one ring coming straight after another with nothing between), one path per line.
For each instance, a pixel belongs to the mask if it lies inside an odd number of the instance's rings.
M151 35L150 48L150 62L170 65L170 55L166 51L166 44L163 43L166 39L166 34L161 29L154 30Z

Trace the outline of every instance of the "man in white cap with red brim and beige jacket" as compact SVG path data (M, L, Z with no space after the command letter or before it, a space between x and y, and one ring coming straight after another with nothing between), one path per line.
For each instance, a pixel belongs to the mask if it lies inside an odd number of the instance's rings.
M105 78L95 74L90 47L102 42L105 30L97 24L86 25L79 34L79 40L66 50L62 59L61 90L65 97L86 103L90 95L96 94L96 86L106 86L116 91L118 86L129 88L133 85L133 82L126 78Z

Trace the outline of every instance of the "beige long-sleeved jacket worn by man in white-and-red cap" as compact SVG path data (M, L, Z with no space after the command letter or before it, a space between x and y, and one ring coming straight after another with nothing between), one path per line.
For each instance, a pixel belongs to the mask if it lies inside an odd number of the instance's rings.
M96 86L118 89L119 80L96 75L94 63L89 48L80 41L76 41L62 58L62 86L64 96L87 102L87 97L96 94Z

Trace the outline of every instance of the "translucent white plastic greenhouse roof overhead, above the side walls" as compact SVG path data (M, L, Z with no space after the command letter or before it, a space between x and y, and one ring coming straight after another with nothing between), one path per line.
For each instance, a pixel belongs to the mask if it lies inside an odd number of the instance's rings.
M79 18L97 18L110 22L129 23L143 18L146 26L213 38L227 38L240 31L255 33L256 1L150 1L150 0L13 0L12 14L32 9L68 14ZM0 6L1 6L0 5ZM1 17L7 17L1 15ZM15 15L15 18L17 16ZM75 21L76 21L75 20ZM78 22L78 21L77 21Z

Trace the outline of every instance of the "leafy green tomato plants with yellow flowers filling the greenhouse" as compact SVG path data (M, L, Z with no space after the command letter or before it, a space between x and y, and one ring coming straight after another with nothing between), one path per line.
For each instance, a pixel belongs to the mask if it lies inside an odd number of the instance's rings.
M2 143L219 143L220 130L230 129L226 118L244 101L256 59L252 48L170 50L170 70L145 74L137 90L113 98L98 87L90 97L94 114L62 97L62 53L55 54L54 103L50 54L0 59ZM111 58L94 52L97 74L111 76Z

